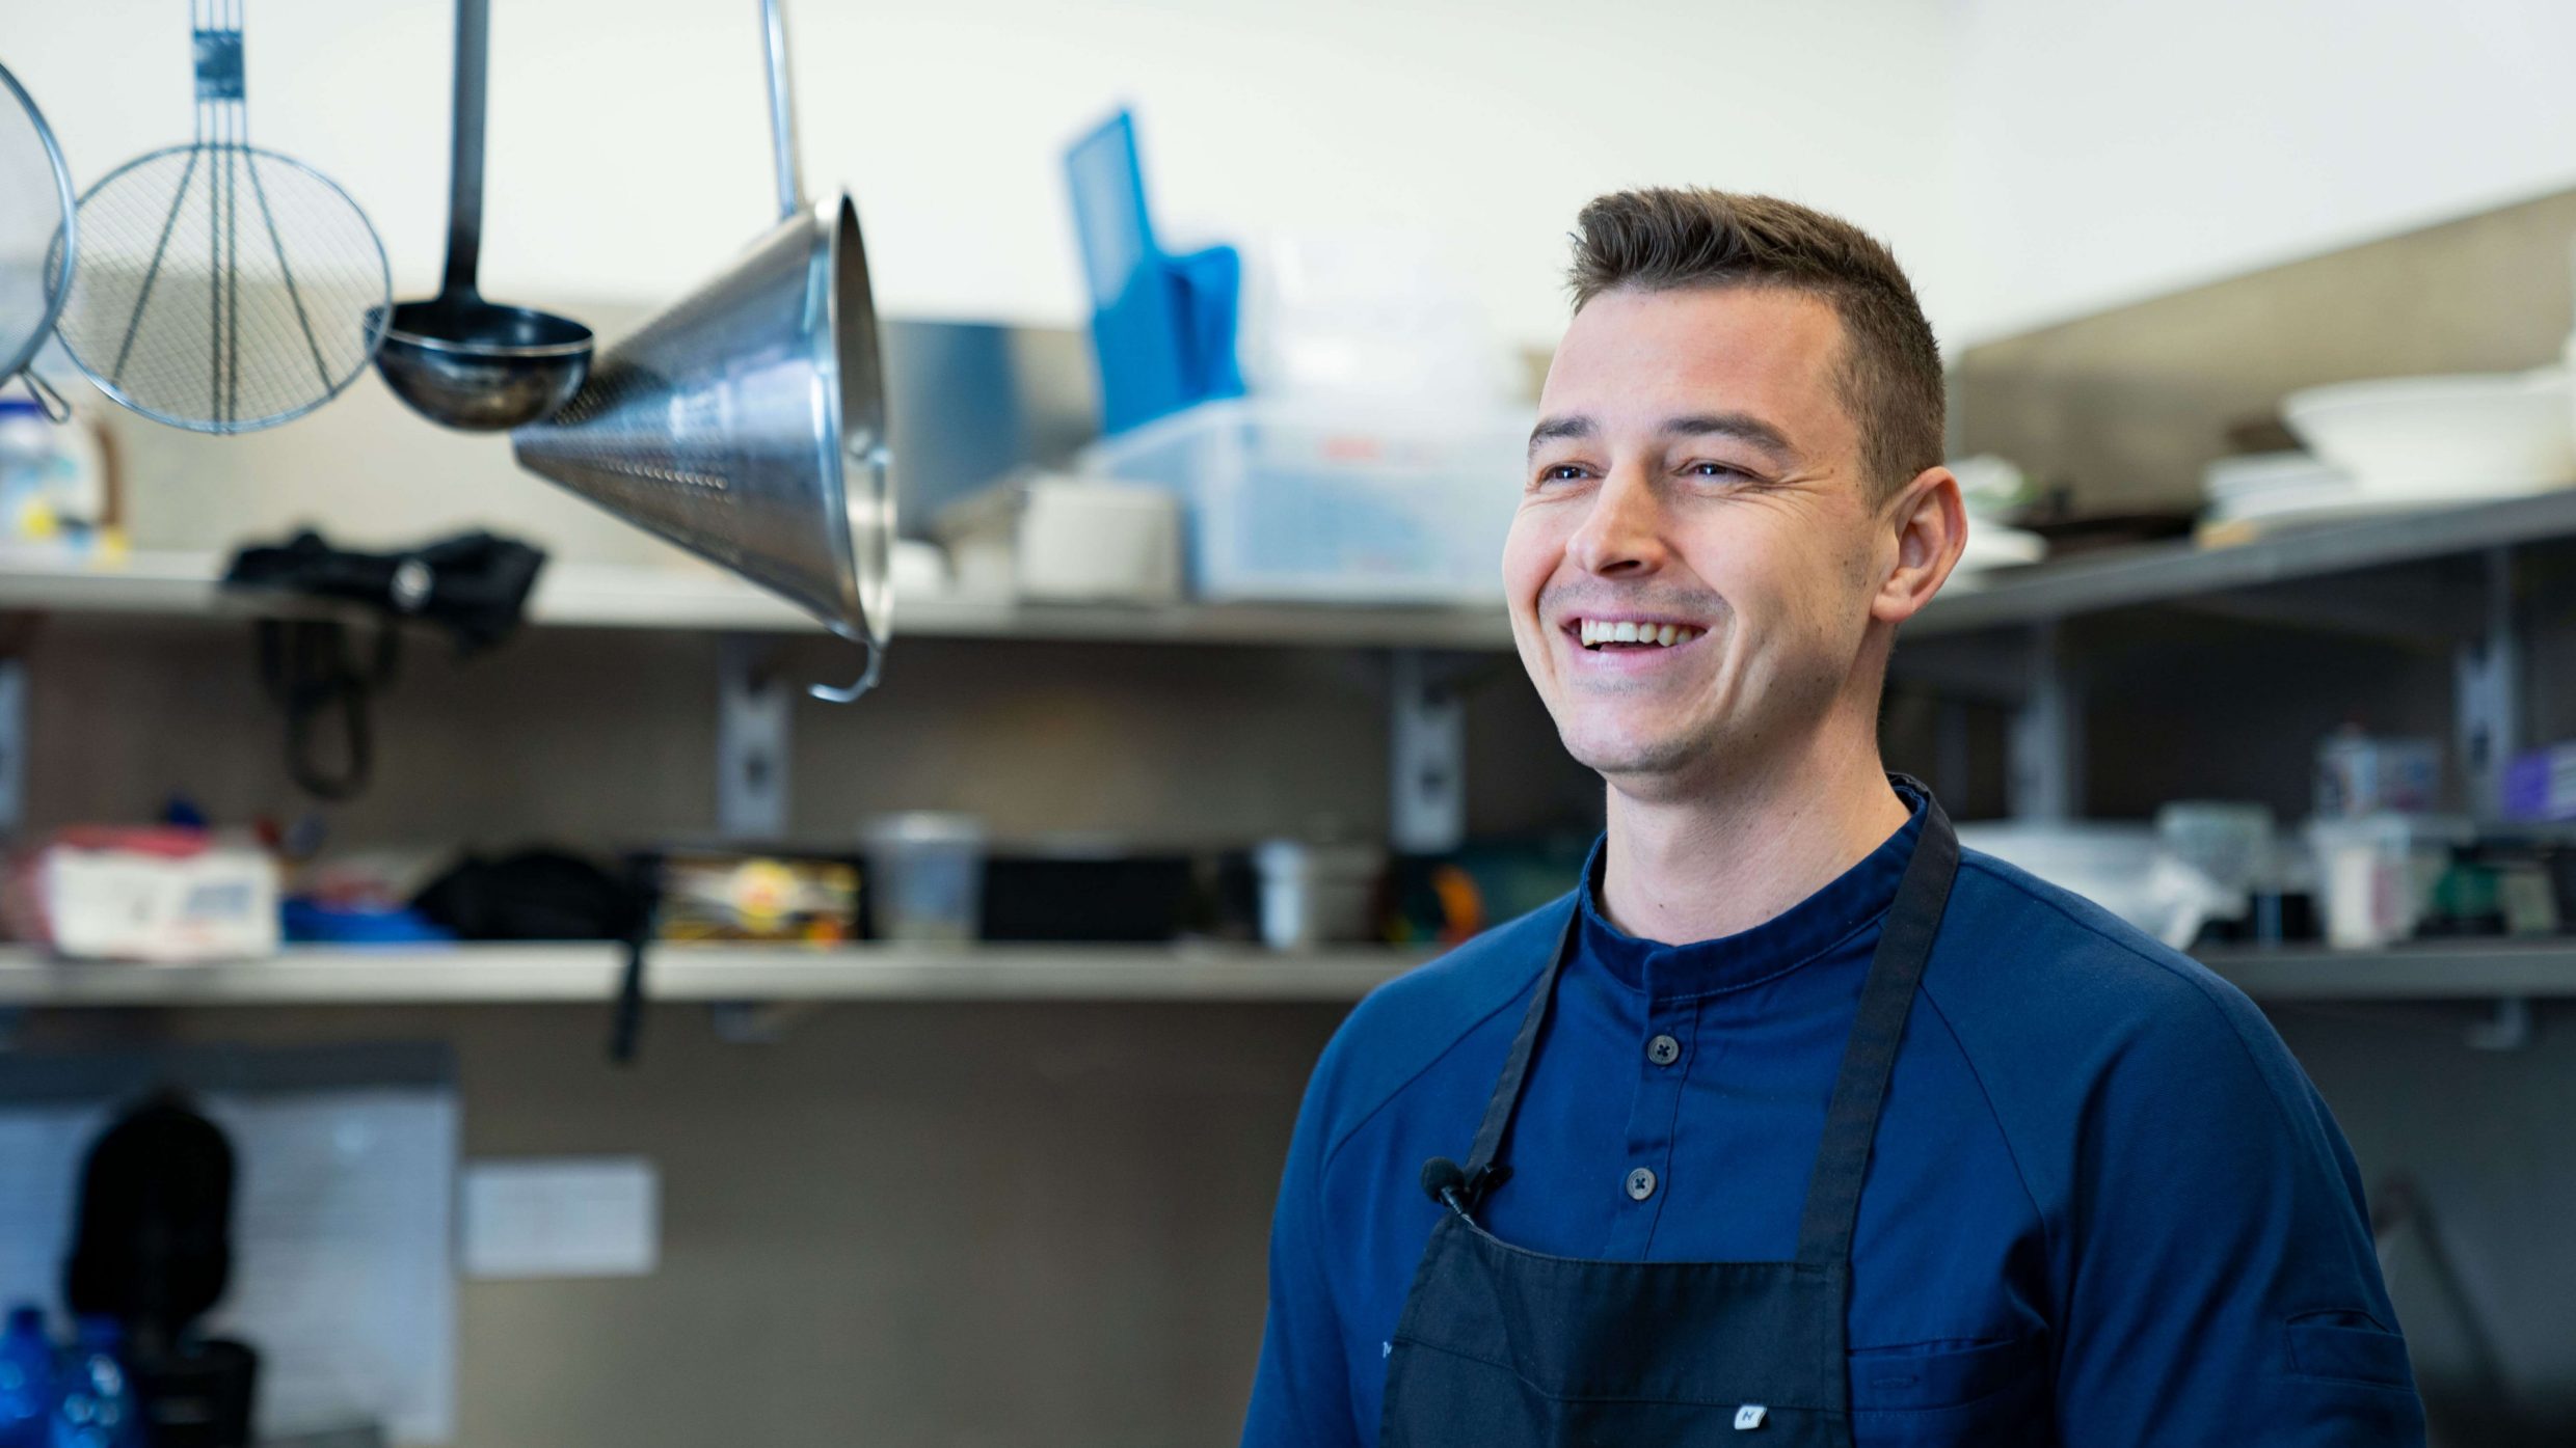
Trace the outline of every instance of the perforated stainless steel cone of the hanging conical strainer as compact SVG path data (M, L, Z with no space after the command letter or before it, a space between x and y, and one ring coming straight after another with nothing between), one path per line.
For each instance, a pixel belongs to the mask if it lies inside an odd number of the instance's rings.
M520 466L884 644L894 497L876 304L850 198L600 353Z

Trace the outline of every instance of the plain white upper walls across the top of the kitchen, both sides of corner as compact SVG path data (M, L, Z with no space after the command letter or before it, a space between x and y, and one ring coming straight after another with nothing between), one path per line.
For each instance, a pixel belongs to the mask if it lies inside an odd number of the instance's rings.
M1517 343L1564 232L1631 183L1780 191L1886 234L1953 343L2576 180L2555 0L788 3L811 186L896 314L1082 314L1059 149L1115 103L1185 232L1419 224ZM0 0L88 183L185 137L178 0ZM446 0L260 0L255 134L340 178L425 294ZM770 214L752 0L492 18L484 276L652 299ZM116 57L103 62L100 57ZM1651 67L1651 70L1641 70Z

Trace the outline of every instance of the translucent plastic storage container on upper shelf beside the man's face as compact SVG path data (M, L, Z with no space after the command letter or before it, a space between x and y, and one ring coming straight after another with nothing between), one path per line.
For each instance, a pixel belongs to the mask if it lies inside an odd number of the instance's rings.
M1242 397L1092 443L1082 472L1182 495L1208 600L1497 603L1530 417L1360 417Z

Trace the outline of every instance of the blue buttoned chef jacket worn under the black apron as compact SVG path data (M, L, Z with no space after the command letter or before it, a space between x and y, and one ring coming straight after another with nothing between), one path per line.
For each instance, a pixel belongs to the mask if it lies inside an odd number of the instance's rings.
M1376 1445L1388 1340L1566 910L1577 953L1479 1219L1595 1260L1785 1260L1922 806L1739 935L1587 886L1373 992L1306 1087L1247 1448ZM1651 1167L1636 1201L1628 1175ZM2342 1131L2233 987L1965 850L1888 1085L1850 1299L1860 1448L2424 1443Z

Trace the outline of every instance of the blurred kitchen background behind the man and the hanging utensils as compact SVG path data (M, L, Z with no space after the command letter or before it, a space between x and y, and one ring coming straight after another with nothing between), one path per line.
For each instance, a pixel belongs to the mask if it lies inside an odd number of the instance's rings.
M1940 327L1891 765L2272 1013L2437 1443L2576 1440L2576 10L788 0L899 520L840 706L811 603L366 366L456 8L227 3L0 0L0 273L234 26L384 258L278 425L121 407L77 283L72 417L0 392L0 1445L1231 1443L1314 1054L1600 827L1494 557L1574 211L1674 183ZM724 273L762 57L497 0L482 291L605 368Z

